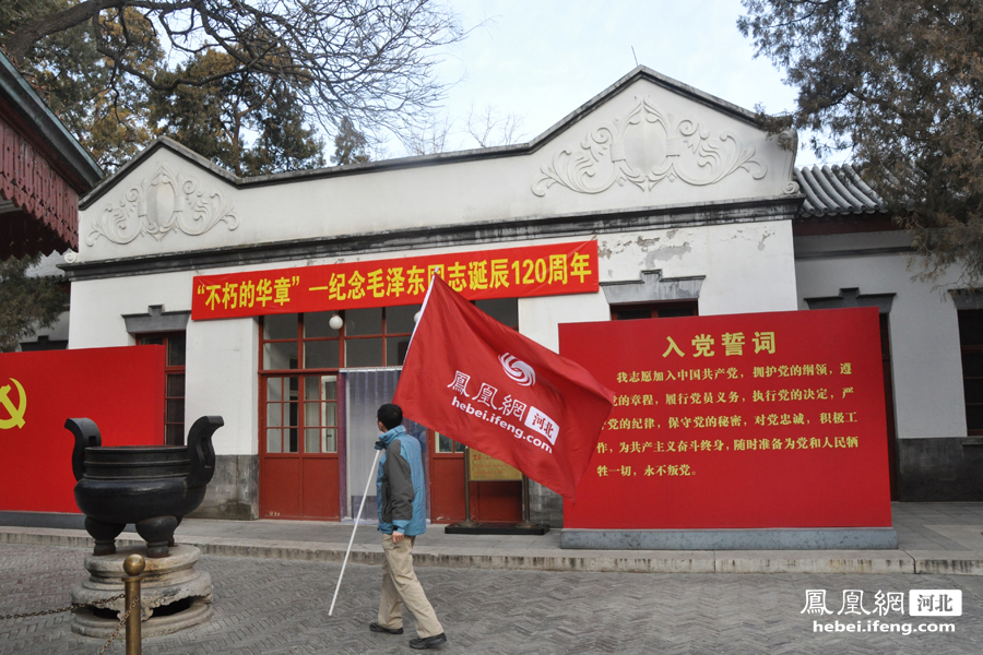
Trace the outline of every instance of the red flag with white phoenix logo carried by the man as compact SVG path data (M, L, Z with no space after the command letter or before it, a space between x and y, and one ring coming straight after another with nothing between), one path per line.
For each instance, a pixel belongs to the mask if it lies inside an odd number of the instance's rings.
M435 276L393 403L572 500L613 395L579 364L506 327Z

